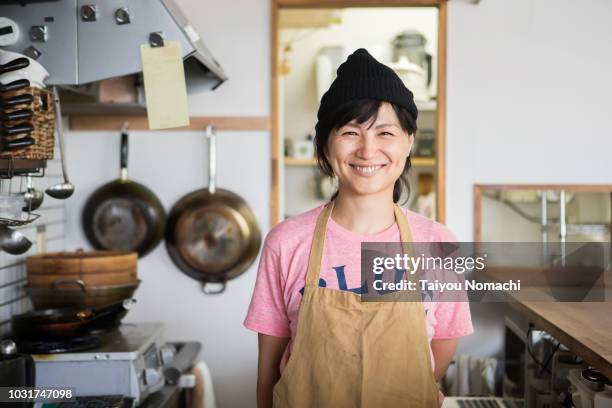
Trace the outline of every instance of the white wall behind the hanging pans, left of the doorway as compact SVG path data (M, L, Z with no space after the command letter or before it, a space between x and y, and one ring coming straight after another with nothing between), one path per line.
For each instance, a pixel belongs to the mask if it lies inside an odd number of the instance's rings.
M270 5L265 0L179 0L229 80L216 91L190 96L193 115L265 116L270 112ZM132 132L130 176L150 187L169 210L183 194L204 186L203 132ZM67 248L88 247L80 217L84 201L118 176L118 132L70 132L69 170L77 187L67 201ZM249 203L263 233L269 228L270 135L219 132L218 186ZM256 261L257 262L257 261ZM129 322L162 321L166 338L202 342L219 408L255 405L257 336L242 326L256 268L207 296L182 274L164 244L139 262L142 285Z

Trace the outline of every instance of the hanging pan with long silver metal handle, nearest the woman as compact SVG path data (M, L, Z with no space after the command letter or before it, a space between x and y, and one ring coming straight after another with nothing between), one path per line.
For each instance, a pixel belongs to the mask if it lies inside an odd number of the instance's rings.
M216 188L216 129L206 128L208 187L183 196L168 214L166 249L184 273L202 282L206 294L245 272L257 257L261 232L248 204L235 193ZM217 288L206 288L207 283Z

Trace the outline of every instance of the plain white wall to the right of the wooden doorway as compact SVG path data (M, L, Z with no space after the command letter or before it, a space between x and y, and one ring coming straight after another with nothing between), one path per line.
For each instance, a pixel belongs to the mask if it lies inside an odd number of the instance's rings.
M472 239L477 183L612 183L612 2L448 3L448 226ZM501 349L503 320L472 305L463 350ZM487 339L487 341L483 341Z

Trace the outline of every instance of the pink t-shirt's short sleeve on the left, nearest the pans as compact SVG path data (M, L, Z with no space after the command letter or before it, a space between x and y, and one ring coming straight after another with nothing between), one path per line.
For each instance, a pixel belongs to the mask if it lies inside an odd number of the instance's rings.
M268 245L264 245L259 259L255 289L244 326L270 336L291 336L281 285L280 258Z

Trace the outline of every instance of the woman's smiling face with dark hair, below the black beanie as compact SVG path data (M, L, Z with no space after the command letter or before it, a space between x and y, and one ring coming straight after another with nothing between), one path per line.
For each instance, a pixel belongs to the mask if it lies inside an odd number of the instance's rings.
M394 183L393 201L409 189L416 122L407 109L375 99L350 101L317 124L317 162L326 176L359 194ZM332 128L333 127L333 128ZM378 176L378 177L375 177ZM336 198L336 192L332 199Z

